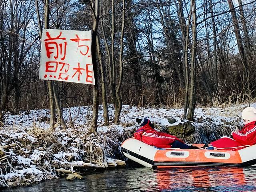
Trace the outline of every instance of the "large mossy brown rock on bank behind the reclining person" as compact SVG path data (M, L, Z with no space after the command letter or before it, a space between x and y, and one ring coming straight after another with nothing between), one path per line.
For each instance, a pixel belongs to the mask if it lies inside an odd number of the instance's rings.
M176 137L184 138L195 132L195 127L191 122L186 121L179 123L178 125L171 125L166 128L168 134L174 135Z

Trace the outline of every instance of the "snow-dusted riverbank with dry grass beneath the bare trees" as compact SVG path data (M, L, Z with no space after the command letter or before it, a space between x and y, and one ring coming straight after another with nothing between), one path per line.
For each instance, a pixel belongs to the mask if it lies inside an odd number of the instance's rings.
M256 107L256 103L251 106ZM241 127L242 110L246 105L222 106L220 108L196 108L196 131L192 142L214 140L230 132L236 126ZM71 128L70 113L75 130ZM56 128L50 133L50 111L46 109L10 112L5 115L4 126L0 128L1 145L16 143L15 148L6 150L8 162L0 162L0 187L26 185L45 179L56 178L53 165L82 162L87 158L100 159L102 164L121 158L120 144L132 136L136 118L149 118L160 126L170 126L168 118L174 118L178 124L182 120L183 109L137 108L124 105L120 115L120 124L114 125L114 107L109 105L110 125L103 126L103 110L100 106L98 129L96 134L88 134L92 108L64 108L63 115L68 129ZM97 152L97 154L95 154ZM101 157L99 157L101 156ZM112 162L113 163L113 162ZM72 170L72 166L70 167ZM28 181L27 183L24 181Z

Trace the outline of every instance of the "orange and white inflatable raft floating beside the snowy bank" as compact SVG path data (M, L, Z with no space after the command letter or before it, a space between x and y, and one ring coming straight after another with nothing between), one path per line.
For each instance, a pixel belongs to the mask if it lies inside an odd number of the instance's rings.
M200 146L200 145L199 145ZM202 145L201 145L202 146ZM161 149L135 138L122 143L124 156L152 168L192 166L256 166L256 145L240 150Z

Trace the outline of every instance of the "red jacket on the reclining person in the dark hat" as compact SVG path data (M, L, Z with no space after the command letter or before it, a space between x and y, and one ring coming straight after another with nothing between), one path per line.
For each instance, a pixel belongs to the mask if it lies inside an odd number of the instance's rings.
M175 140L184 143L182 140L176 138L175 136L169 135L167 133L157 132L148 124L139 128L134 133L134 137L148 145L156 146L158 148L171 148L171 144Z

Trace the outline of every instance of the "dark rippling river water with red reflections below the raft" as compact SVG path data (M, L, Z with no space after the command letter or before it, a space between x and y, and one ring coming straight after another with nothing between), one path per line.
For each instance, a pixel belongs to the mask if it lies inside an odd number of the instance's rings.
M256 167L248 168L126 168L107 170L68 182L57 179L3 192L195 192L256 191Z

